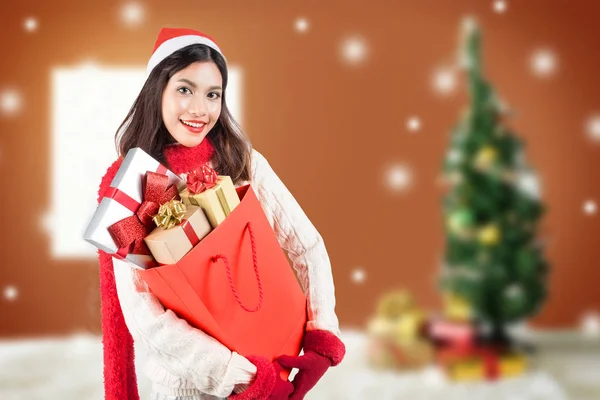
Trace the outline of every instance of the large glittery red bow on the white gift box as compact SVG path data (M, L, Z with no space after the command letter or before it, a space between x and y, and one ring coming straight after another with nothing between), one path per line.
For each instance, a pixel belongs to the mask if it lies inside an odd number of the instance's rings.
M150 254L143 239L156 227L152 217L161 204L173 199L179 200L177 188L175 185L169 186L169 177L166 175L148 171L142 178L142 187L143 202L134 211L135 214L108 227L120 255Z

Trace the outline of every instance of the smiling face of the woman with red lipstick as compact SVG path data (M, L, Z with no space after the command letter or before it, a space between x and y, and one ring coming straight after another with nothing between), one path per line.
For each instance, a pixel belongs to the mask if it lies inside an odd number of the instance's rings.
M221 114L223 79L213 62L195 62L174 74L162 96L162 118L186 147L199 145Z

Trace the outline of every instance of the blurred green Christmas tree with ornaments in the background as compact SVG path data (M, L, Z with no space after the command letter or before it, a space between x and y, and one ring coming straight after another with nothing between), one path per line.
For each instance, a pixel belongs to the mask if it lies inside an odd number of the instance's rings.
M505 124L508 113L482 72L481 34L463 26L461 64L470 104L452 130L444 174L444 291L464 299L473 317L506 340L507 323L535 314L546 297L548 263L538 239L545 212L524 143Z

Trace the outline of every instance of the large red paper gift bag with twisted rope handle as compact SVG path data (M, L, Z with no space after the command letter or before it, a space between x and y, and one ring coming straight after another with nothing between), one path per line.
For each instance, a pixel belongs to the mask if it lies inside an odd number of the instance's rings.
M230 350L297 356L306 297L256 194L237 193L240 204L178 263L138 273L166 308Z

